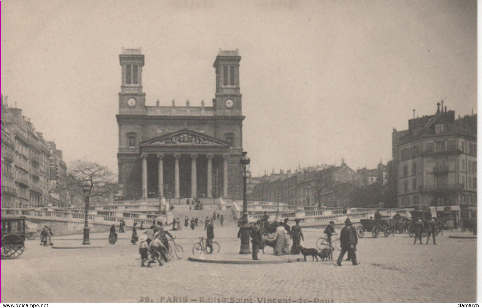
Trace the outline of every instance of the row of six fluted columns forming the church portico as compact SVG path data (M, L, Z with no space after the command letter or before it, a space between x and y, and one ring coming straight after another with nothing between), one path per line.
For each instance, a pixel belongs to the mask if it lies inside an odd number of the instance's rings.
M149 158L150 157L150 158ZM142 196L143 198L148 198L149 195L153 194L153 192L150 192L148 193L148 187L149 187L149 183L148 183L148 172L149 174L152 175L152 172L154 171L155 172L155 169L154 170L148 170L147 168L147 160L148 158L150 160L152 160L153 157L156 157L159 164L158 164L158 168L157 168L157 179L158 179L158 185L157 185L157 189L158 189L158 196L159 197L164 197L164 192L166 190L166 182L168 183L173 183L174 182L174 197L175 199L179 199L181 198L181 167L186 167L186 168L189 168L186 166L186 164L180 166L181 164L181 157L183 157L183 161L186 161L186 158L189 157L190 158L190 170L191 170L191 176L190 176L190 182L191 182L191 187L190 187L190 198L196 198L196 197L207 197L207 198L213 198L213 160L214 158L216 158L216 163L217 163L217 166L218 166L218 170L219 173L221 174L221 169L223 169L222 171L222 186L223 186L223 189L222 189L222 196L223 198L228 198L228 159L229 159L229 155L227 153L143 153L141 155L141 158L142 158ZM173 178L170 178L171 174L166 174L165 173L165 168L166 168L166 165L165 165L165 159L167 158L170 158L170 160L172 161L174 159L174 179ZM204 166L206 166L206 160L207 160L207 170L206 169L203 169L206 173L206 177L205 179L200 179L198 178L198 176L203 176L203 173L204 172L201 172L201 175L198 174L197 170L199 168L201 168L200 165L198 165L198 160L202 158L203 161L204 161ZM219 162L219 159L223 160L223 163L221 164ZM169 163L169 161L168 161ZM202 161L201 161L202 163ZM152 164L151 164L152 165ZM172 162L169 164L172 168ZM169 167L168 165L168 167ZM172 169L171 169L172 170ZM201 170L202 171L202 170ZM165 178L165 176L167 176ZM218 176L218 178L220 179L221 175ZM152 180L152 179L151 179ZM155 186L155 178L154 178L154 182L150 183L152 185ZM200 183L206 183L206 195L205 196L198 196L198 181ZM184 183L188 183L188 182L184 182ZM172 184L170 184L172 185ZM187 184L188 185L188 184ZM220 187L221 184L219 184L219 187ZM169 187L169 191L172 191L172 188L173 187ZM151 189L152 190L152 189ZM221 194L221 192L218 191L218 196L219 197L219 194ZM186 195L186 191L185 191L185 195Z

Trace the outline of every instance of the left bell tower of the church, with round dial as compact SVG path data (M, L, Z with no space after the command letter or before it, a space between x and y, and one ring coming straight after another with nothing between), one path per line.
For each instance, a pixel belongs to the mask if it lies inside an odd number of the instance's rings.
M142 92L142 67L144 66L142 50L122 48L119 60L122 67L119 109L144 110L146 94Z

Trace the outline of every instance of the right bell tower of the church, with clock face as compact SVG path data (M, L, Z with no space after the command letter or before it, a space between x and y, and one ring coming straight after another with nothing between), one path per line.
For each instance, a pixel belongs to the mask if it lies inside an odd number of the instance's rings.
M219 49L219 53L214 61L214 68L216 69L216 97L213 100L213 106L216 114L241 114L240 60L241 56L238 50Z

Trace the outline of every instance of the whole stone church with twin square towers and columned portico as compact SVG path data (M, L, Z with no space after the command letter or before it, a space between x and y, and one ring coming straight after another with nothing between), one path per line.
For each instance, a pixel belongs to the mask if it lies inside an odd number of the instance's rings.
M124 198L242 199L242 94L238 51L214 61L213 107L146 106L141 49L122 49L119 184Z

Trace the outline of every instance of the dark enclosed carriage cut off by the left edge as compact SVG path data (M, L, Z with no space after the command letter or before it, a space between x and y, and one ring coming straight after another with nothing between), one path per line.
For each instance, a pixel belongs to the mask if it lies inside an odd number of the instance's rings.
M24 250L25 216L1 216L1 257L20 256Z

